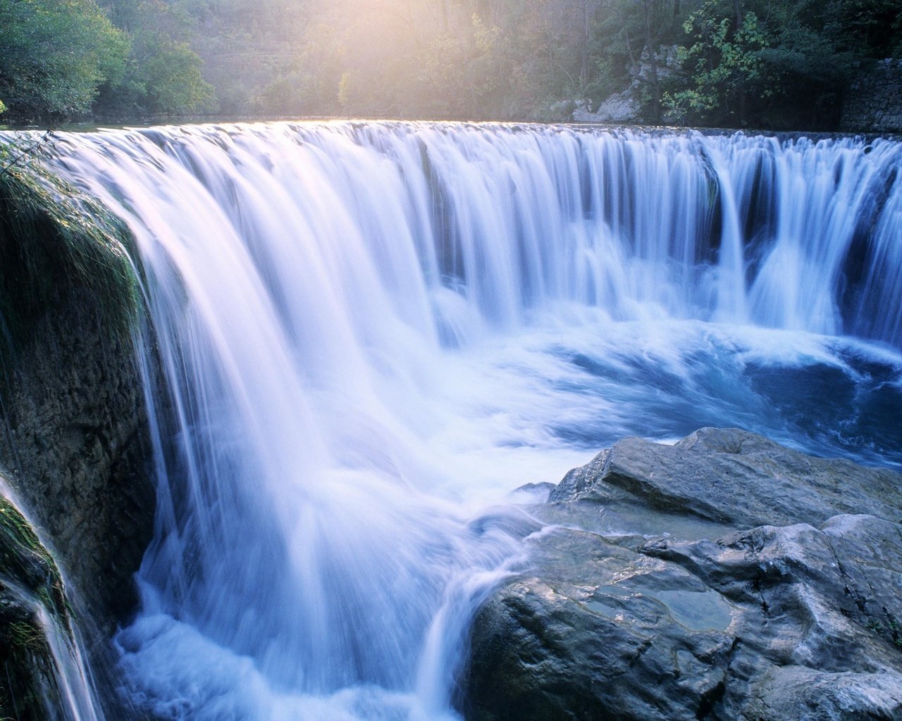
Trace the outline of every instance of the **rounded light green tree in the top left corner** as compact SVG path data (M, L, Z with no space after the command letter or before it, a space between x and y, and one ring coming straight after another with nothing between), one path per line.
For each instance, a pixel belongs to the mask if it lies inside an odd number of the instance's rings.
M128 39L93 0L0 0L0 96L16 120L87 114Z

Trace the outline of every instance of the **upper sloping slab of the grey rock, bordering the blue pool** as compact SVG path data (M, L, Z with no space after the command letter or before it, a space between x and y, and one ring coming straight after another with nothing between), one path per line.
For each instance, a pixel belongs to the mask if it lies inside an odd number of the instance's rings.
M824 461L734 428L703 428L675 445L625 438L571 470L550 501L628 501L749 528L821 523L842 513L902 521L899 476Z

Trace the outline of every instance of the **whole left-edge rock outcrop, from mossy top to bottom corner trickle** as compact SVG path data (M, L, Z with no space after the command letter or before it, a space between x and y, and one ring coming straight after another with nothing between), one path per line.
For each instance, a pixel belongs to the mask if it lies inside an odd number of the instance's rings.
M140 269L123 222L44 169L40 143L3 140L0 716L93 717L93 685L108 717L136 719L107 661L116 625L136 609L155 507L132 340Z

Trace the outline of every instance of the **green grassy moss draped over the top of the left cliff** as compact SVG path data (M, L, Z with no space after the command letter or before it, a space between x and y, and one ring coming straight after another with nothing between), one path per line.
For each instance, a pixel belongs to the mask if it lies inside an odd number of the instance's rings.
M25 136L0 138L0 359L32 340L36 321L85 288L111 333L129 333L141 307L133 236L97 200L51 173Z

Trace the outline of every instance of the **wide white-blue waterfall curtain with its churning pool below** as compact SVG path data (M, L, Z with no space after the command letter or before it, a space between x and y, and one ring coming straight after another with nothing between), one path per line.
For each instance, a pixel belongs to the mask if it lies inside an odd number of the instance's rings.
M481 509L624 434L902 463L897 142L271 123L56 155L136 233L169 388L117 637L163 717L456 716L531 527Z

